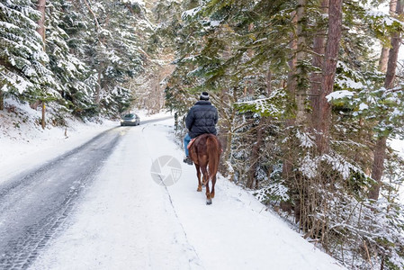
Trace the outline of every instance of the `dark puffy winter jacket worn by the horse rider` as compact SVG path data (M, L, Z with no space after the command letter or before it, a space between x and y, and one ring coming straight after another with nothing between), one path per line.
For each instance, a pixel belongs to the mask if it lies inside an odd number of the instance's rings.
M218 110L209 101L200 100L189 110L185 118L188 134L193 139L204 133L216 135Z

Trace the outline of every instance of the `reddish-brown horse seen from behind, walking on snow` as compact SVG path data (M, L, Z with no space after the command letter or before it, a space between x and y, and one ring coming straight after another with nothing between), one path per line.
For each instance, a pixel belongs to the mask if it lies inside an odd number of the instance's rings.
M211 199L215 196L216 173L219 168L220 154L220 141L213 134L202 134L196 137L189 148L189 157L195 164L196 175L198 176L197 191L202 192L202 184L206 185L206 204L211 204ZM211 180L211 191L209 180Z

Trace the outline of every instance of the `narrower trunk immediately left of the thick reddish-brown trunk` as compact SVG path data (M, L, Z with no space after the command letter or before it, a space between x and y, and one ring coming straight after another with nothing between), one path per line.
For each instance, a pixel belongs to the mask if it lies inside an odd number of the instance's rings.
M320 10L322 14L328 14L328 0L321 2ZM324 66L324 56L326 54L326 39L327 31L324 28L320 28L316 32L313 40L313 59L311 64L313 67L321 69ZM321 93L321 78L320 71L314 71L310 75L310 105L313 109L311 114L311 122L313 127L319 126L319 95Z

